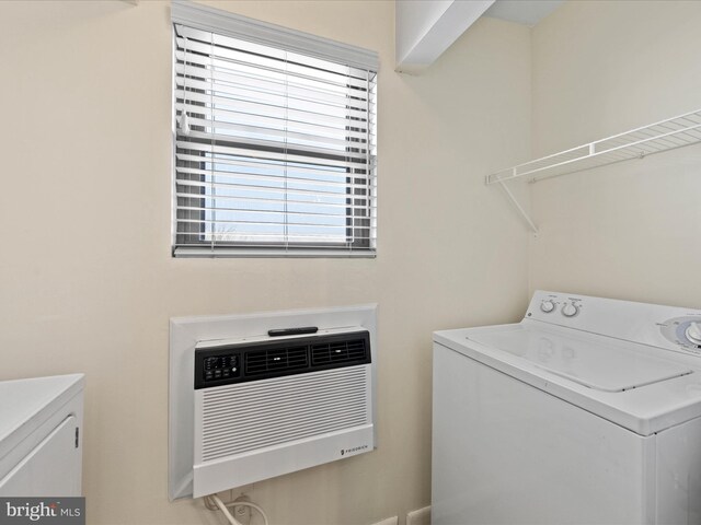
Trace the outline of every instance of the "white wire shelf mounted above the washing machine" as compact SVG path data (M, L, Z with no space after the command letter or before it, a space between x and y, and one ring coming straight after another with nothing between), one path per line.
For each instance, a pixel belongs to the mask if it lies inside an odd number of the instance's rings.
M701 142L701 109L536 159L486 176L486 184L529 182L605 166Z

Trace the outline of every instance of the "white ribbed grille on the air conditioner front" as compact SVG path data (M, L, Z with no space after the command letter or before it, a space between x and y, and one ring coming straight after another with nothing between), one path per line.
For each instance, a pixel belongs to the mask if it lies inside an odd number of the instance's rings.
M371 422L369 365L206 388L204 462Z

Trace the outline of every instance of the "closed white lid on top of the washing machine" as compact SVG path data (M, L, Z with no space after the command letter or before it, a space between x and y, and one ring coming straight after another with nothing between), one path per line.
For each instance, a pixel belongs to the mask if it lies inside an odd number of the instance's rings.
M539 369L601 392L623 392L680 377L693 372L685 363L668 361L639 345L518 326L513 330L475 331L469 339L530 361Z

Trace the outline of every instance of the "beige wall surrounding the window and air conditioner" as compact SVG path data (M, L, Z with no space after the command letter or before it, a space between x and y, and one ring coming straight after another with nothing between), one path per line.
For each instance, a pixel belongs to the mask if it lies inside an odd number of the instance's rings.
M168 322L378 302L379 450L250 488L273 524L428 504L430 331L516 319L521 223L483 176L530 151L529 30L480 21L393 72L392 2L214 2L377 49L376 260L170 257L168 3L0 2L0 378L87 374L90 524L219 523L166 499Z

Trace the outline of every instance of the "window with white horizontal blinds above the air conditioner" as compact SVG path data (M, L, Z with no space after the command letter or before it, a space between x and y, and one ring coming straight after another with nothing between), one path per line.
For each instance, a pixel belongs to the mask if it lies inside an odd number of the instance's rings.
M377 57L173 4L175 256L375 256Z

